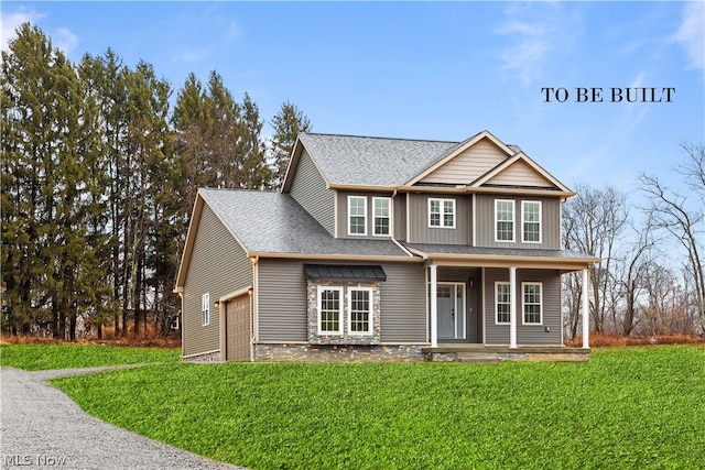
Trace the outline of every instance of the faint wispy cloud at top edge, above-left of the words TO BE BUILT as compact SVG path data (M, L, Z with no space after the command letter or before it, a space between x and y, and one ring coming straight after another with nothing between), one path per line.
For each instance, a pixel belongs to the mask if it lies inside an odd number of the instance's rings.
M572 7L571 7L572 8ZM510 4L505 22L495 33L509 39L500 54L501 70L519 78L524 86L540 79L557 50L570 48L581 34L577 10L557 3Z

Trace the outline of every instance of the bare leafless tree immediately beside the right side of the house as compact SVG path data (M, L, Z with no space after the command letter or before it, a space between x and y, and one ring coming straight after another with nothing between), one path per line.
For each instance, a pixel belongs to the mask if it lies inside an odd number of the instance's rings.
M595 331L601 332L609 309L615 308L617 286L610 270L618 237L628 220L627 197L610 186L595 189L579 185L576 190L578 196L564 207L563 242L568 250L601 259L598 265L589 270L593 325ZM565 287L570 302L571 334L574 334L578 323L576 304L579 304L579 283L576 278L567 278Z

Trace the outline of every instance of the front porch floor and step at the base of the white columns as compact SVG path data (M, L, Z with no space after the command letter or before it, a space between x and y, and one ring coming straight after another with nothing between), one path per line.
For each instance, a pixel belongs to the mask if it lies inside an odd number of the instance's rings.
M589 348L565 346L484 346L447 343L422 348L421 353L430 362L499 363L502 361L587 362Z

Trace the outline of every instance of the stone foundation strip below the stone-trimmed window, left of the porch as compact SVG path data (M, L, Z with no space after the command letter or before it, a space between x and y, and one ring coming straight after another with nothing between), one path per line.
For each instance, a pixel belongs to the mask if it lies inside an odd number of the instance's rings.
M254 361L270 362L416 362L413 345L254 345Z

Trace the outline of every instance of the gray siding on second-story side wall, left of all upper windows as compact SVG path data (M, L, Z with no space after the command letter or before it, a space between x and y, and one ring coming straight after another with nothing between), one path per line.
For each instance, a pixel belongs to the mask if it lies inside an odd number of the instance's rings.
M335 192L327 188L306 150L301 153L289 193L328 233L335 236Z

